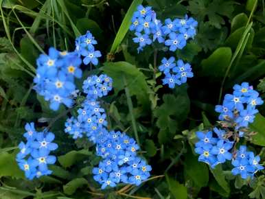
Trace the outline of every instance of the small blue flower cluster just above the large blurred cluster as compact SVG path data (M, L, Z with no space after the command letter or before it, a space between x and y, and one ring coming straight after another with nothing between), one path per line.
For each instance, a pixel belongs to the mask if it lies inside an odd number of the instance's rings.
M84 65L89 65L89 63L92 63L93 65L98 64L98 58L102 55L100 51L95 50L94 45L96 44L97 41L89 30L86 34L76 38L76 52L78 55L84 56Z

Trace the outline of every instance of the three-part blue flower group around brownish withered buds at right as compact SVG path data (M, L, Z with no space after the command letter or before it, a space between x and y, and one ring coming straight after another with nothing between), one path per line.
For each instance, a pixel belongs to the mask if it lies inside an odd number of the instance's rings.
M199 141L195 144L195 152L200 155L198 161L205 162L212 168L231 161L234 166L231 170L233 175L240 174L244 179L253 178L255 172L264 169L259 164L260 156L247 152L245 145L240 145L240 149L236 151L233 148L239 137L244 136L240 129L247 128L249 123L253 122L255 114L258 113L255 106L262 104L263 101L259 93L246 82L241 86L235 84L233 89L233 95L225 95L222 106L216 106L216 111L220 113L219 119L227 122L222 126L224 129L214 128L213 132L196 132Z

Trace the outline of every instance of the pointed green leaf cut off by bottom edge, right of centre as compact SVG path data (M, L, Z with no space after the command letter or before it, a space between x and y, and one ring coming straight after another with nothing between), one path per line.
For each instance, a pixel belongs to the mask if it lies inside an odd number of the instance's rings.
M178 181L174 180L174 178L170 178L168 175L165 175L165 178L168 182L168 187L170 189L171 194L176 199L186 199L187 198L187 187L178 183Z

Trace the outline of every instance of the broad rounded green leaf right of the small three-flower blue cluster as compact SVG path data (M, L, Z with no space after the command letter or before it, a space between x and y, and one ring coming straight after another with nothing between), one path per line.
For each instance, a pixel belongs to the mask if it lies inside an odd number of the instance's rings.
M223 77L229 66L232 51L229 47L220 47L216 49L209 58L201 62L203 66L203 75Z

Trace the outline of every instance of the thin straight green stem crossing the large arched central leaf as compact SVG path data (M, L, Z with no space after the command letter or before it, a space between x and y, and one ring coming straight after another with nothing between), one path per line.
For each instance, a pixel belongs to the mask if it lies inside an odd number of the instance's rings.
M136 127L135 115L133 115L133 102L132 102L132 99L130 98L130 91L128 89L128 84L127 84L126 78L124 77L124 75L122 76L122 78L124 80L124 86L125 86L124 89L125 89L127 104L128 104L128 108L129 108L129 112L130 112L130 118L132 119L133 132L135 133L135 139L137 141L137 144L139 145L139 148L141 148L139 137L138 137L138 132L137 132L137 127Z

